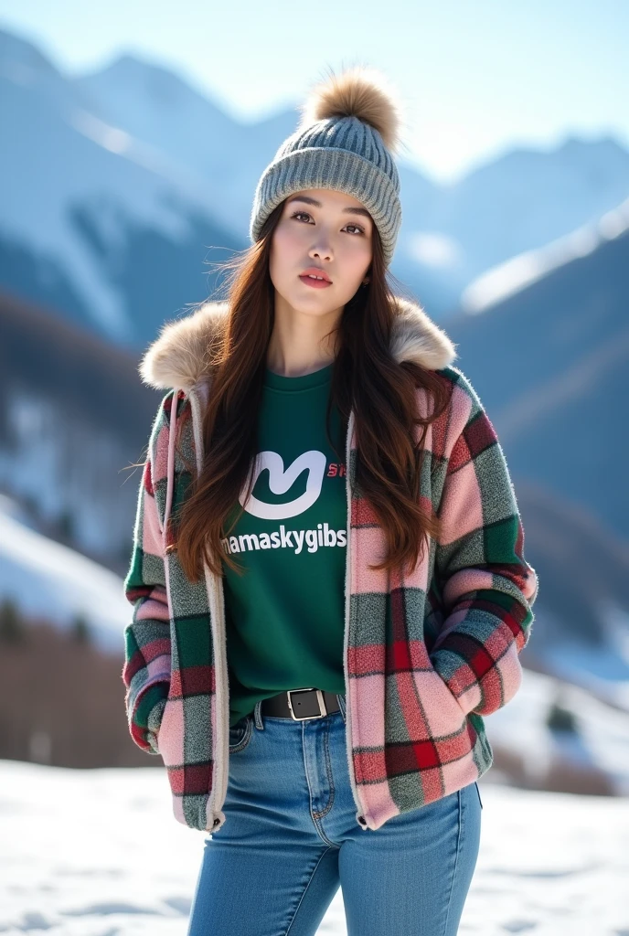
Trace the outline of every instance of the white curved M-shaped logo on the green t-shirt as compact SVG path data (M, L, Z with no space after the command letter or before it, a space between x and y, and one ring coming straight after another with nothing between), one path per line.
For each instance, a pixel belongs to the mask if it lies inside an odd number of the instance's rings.
M303 452L299 458L288 465L286 470L284 470L284 459L277 452L259 452L254 467L254 483L251 490L254 490L256 487L257 478L265 468L269 469L269 490L271 490L273 494L278 495L285 494L287 490L290 490L301 472L308 469L306 490L300 497L296 497L294 500L288 501L285 504L267 504L265 501L258 500L253 494L249 498L248 503L244 504L242 499L246 490L245 483L241 490L239 498L240 503L248 514L252 514L254 517L259 517L261 519L271 520L296 517L298 514L302 514L304 510L307 510L308 507L312 507L312 505L315 504L321 493L326 464L327 459L325 454L317 451L315 448Z

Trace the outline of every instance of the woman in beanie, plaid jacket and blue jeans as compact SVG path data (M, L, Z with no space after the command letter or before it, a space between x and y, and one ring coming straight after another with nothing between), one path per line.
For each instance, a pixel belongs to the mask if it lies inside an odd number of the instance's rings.
M189 936L457 932L534 569L454 345L388 288L399 110L315 88L226 301L142 360L167 389L125 593L131 735L212 833Z

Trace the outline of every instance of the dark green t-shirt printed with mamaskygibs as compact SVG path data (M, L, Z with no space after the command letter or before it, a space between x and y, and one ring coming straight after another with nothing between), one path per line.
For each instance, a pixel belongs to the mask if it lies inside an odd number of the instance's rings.
M332 365L298 377L266 371L256 482L223 540L229 724L260 699L315 686L344 692L347 503L341 416L326 436ZM229 530L240 507L227 518Z

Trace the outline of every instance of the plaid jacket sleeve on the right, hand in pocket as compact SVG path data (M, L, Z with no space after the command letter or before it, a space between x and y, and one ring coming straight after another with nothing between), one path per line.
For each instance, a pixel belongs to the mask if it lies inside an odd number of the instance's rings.
M518 692L519 652L531 635L538 580L524 559L503 449L462 373L452 400L435 552L446 620L431 661L465 714L490 715Z

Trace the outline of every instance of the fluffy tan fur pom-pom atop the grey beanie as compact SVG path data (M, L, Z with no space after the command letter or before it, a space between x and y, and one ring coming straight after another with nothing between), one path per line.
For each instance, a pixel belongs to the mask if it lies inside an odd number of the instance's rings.
M331 117L358 117L378 131L390 153L397 153L402 103L385 76L371 66L353 66L319 82L299 109L299 129Z

